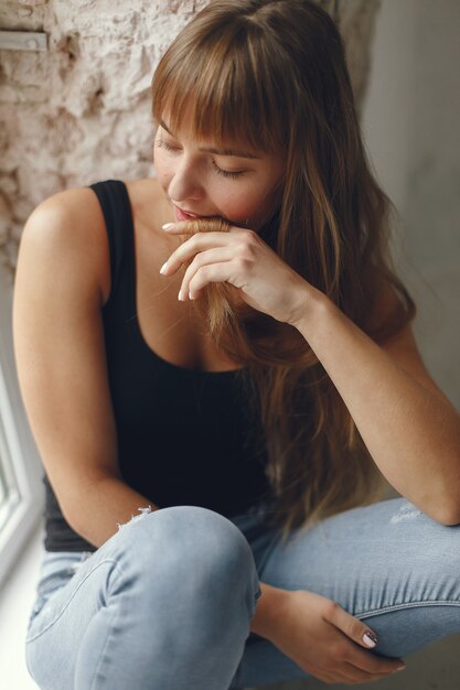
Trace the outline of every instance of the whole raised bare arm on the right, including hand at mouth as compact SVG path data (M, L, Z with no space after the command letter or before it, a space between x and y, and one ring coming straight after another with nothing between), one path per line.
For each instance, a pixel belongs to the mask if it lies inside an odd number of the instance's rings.
M252 230L193 234L184 222L163 230L191 235L162 268L172 276L189 262L184 300L227 282L249 306L298 328L388 482L439 522L460 522L460 414L425 369L409 327L378 346ZM396 299L382 291L374 317Z

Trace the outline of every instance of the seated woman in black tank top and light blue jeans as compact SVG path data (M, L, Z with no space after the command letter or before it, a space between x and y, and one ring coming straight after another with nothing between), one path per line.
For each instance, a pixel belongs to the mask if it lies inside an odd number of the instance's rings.
M339 34L306 0L212 2L152 91L157 180L57 194L21 244L30 672L384 678L460 630L460 419L386 258ZM404 498L363 507L381 475Z

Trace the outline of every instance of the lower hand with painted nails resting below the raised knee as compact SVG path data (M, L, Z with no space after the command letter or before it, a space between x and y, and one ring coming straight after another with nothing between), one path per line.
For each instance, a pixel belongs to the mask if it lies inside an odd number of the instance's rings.
M284 591L270 629L264 632L300 668L327 683L364 683L385 678L404 661L370 653L373 633L335 602L303 590ZM378 648L378 647L377 647Z

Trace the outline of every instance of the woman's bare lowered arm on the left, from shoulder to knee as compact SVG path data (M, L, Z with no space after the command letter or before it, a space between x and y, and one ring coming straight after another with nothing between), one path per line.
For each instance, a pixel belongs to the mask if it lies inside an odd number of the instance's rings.
M121 479L100 309L106 230L90 190L44 202L21 240L13 333L35 441L63 514L98 547L150 504Z

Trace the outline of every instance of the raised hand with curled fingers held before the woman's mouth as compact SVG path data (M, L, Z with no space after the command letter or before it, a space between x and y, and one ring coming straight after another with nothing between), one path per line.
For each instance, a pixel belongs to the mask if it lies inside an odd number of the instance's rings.
M163 229L174 235L191 235L162 267L172 276L190 262L182 280L180 300L195 300L200 290L212 282L226 282L240 298L277 321L293 324L307 309L309 283L293 271L253 230L231 227L222 233L195 233L193 222L168 224Z

